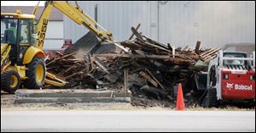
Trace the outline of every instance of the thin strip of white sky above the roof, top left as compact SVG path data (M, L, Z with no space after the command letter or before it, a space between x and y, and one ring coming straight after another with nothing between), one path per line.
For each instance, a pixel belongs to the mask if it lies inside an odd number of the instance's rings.
M44 6L45 1L40 1L40 6ZM38 1L1 1L1 6L35 6Z

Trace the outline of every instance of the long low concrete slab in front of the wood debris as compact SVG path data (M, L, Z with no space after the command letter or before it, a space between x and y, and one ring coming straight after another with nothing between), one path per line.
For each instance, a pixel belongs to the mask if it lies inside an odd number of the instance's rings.
M15 104L23 103L131 103L131 92L85 90L20 90Z

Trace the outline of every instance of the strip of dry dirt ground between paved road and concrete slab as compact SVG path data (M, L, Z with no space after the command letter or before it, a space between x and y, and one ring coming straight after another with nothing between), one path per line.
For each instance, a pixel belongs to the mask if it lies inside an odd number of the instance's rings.
M137 106L135 106L137 105ZM173 103L131 98L130 103L30 103L15 104L15 95L1 91L1 110L175 110ZM219 108L201 108L198 105L186 107L186 110L224 110L224 111L255 111L253 107L242 107L236 104L221 105Z

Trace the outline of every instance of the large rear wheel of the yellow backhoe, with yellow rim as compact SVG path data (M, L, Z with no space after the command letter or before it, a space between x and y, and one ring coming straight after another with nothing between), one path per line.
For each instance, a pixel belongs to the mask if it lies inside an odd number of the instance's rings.
M26 77L24 86L27 89L40 89L44 85L46 67L42 58L35 57L30 64L26 65Z

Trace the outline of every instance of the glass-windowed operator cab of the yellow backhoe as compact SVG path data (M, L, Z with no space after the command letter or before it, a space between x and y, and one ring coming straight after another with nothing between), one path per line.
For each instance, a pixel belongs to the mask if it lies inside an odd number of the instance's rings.
M34 23L33 16L1 14L1 46L11 46L10 58L12 64L22 65L24 51L28 47L34 46L36 41L37 26Z

